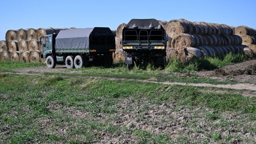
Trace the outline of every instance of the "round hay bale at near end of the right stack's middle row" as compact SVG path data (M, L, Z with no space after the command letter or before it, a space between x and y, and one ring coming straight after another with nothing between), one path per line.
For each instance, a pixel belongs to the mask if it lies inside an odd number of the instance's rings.
M173 38L171 47L176 51L195 46L195 39L189 34L179 34Z

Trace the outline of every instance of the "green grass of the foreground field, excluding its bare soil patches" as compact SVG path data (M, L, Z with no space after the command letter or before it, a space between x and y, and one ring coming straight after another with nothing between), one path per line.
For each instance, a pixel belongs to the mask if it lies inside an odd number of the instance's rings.
M148 104L173 103L184 108L207 107L219 113L242 111L256 114L255 97L201 92L193 86L127 80L4 74L0 76L0 91L0 125L3 131L0 140L4 143L93 143L101 140L102 132L111 135L128 133L139 143L193 142L188 137L174 140L165 133L128 130L108 121L99 121L99 114L122 113L122 110L117 110L117 105L130 97ZM86 116L73 117L75 112L83 112ZM142 117L138 115L137 118ZM208 114L207 117L219 119L217 114ZM46 128L40 122L45 118L52 119ZM61 129L65 130L64 135L59 134L63 131ZM211 138L218 141L220 137L213 133Z

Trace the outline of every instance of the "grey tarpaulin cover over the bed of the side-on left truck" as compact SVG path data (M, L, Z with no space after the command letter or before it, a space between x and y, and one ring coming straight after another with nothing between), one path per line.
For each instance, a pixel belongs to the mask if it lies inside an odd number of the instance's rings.
M55 49L89 48L91 36L114 37L114 34L109 28L102 27L61 30L56 37Z

